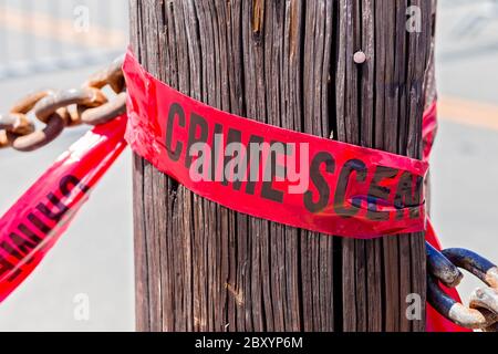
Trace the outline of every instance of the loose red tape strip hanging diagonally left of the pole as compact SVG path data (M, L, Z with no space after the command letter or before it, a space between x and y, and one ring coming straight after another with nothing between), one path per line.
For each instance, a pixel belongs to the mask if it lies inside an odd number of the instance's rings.
M0 302L65 232L89 192L126 147L126 116L95 127L32 185L0 219Z

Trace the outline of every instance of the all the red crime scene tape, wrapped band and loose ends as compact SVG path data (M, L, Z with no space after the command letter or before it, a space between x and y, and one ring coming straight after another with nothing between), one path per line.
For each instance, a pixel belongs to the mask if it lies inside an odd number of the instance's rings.
M124 72L127 117L121 116L87 133L0 219L0 302L22 283L66 230L87 200L89 191L126 146L125 129L126 140L136 154L194 192L238 212L362 239L427 229L426 239L440 249L425 215L423 194L437 126L435 104L424 116L424 160L416 160L209 107L153 77L131 51ZM247 149L224 155L234 143ZM251 143L262 148L250 155ZM205 148L204 158L200 150L196 156L189 154L198 144ZM277 145L283 149L274 148ZM303 190L298 190L297 180L290 178L292 168L286 165L289 157L304 162L293 171L307 173L310 185ZM257 164L252 164L253 159ZM191 174L193 166L199 160L205 164L197 164L196 176ZM229 167L231 175L227 176ZM235 174L246 178L230 179ZM292 188L298 192L290 192ZM455 290L448 289L448 293L459 300ZM428 305L427 331L467 330Z

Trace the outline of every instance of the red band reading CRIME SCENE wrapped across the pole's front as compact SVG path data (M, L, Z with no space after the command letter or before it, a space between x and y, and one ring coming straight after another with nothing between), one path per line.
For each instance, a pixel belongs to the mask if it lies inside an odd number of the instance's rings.
M155 79L131 51L123 70L128 144L195 194L346 238L425 230L426 162L218 111Z

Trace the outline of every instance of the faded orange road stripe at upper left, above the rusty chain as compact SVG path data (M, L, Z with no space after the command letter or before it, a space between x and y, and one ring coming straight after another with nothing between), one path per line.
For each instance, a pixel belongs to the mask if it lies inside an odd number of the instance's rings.
M126 45L126 35L118 30L91 24L87 32L79 32L72 20L40 12L27 14L6 6L0 6L0 28L84 48L124 49Z

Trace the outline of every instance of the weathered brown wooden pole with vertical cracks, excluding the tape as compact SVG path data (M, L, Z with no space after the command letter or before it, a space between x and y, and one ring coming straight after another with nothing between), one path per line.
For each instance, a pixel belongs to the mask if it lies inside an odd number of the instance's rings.
M409 11L408 8L413 11ZM422 156L430 0L131 0L132 46L220 110ZM415 12L414 12L415 11ZM421 15L419 32L406 23ZM353 55L362 50L366 62ZM422 233L349 240L240 215L134 159L138 331L424 331Z

